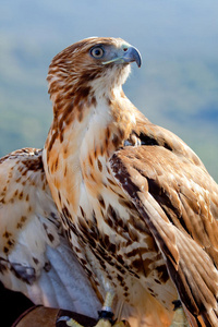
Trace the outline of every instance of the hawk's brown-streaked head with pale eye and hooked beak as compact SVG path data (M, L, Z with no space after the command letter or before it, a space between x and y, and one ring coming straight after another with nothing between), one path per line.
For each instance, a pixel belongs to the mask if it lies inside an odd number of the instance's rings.
M90 37L57 55L48 73L51 98L105 93L121 86L129 73L130 62L141 65L138 50L121 38Z

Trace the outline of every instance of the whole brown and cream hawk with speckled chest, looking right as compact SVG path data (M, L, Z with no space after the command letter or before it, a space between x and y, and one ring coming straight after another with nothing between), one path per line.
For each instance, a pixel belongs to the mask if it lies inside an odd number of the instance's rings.
M45 147L0 165L1 279L89 315L114 293L132 326L170 326L180 300L190 326L215 327L218 185L124 95L131 62L141 65L138 50L109 37L53 58Z

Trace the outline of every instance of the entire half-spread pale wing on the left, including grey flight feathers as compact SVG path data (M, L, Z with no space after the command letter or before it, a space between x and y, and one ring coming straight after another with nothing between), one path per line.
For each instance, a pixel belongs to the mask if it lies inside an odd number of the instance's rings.
M0 279L35 304L96 317L100 304L62 233L41 150L0 160Z

